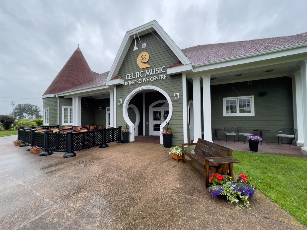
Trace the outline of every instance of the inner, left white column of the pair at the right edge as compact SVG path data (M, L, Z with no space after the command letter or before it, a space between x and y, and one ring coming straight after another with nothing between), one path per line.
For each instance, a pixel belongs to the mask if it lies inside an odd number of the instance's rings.
M302 77L301 71L294 74L292 78L293 92L293 118L294 128L297 129L295 140L297 146L304 146L304 130L303 130L303 95L302 95Z

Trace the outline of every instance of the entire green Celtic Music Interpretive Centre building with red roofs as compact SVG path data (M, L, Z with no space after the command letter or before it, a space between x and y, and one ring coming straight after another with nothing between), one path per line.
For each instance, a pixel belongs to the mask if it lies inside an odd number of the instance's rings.
M42 96L44 125L127 124L134 141L169 123L174 145L227 126L277 142L294 127L306 154L306 63L307 33L181 50L151 21L126 33L108 72L91 71L78 47Z

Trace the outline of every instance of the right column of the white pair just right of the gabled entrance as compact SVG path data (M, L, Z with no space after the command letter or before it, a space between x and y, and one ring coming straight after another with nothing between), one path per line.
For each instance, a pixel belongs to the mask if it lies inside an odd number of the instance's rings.
M212 142L210 75L201 78L203 79L204 140Z

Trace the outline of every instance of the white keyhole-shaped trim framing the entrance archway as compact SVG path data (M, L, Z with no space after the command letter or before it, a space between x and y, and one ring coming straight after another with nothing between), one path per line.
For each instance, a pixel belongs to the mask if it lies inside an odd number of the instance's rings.
M134 97L134 95L136 95L138 92L140 91L143 91L143 90L147 90L147 89L150 89L150 90L156 90L158 92L160 92L161 94L163 94L163 96L166 98L167 102L169 103L169 116L167 117L167 119L160 125L160 131L162 132L163 130L163 127L166 125L167 122L169 122L169 120L171 119L172 117L172 114L173 114L173 104L172 104L172 101L169 97L169 95L162 89L158 88L157 86L140 86L134 90L132 90L132 92L130 92L130 94L126 97L124 103L123 103L123 106L122 106L122 114L123 114L123 117L127 123L127 125L129 125L129 128L130 128L130 141L134 141L134 124L132 123L132 121L130 121L129 117L128 117L128 105L129 105L129 102L131 100L131 98ZM163 144L163 138L162 138L162 135L160 135L160 144Z

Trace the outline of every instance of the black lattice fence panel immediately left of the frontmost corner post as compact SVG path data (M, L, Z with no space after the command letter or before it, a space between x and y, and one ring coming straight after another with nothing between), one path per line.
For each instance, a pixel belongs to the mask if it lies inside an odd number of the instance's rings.
M67 134L66 133L47 133L48 150L57 152L67 151Z

